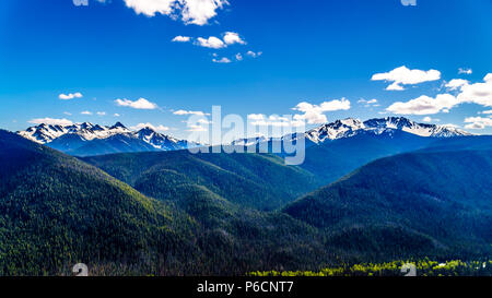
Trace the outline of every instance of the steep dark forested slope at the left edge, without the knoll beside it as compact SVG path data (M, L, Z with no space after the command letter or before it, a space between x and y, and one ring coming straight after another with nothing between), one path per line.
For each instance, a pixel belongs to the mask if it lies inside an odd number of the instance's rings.
M5 131L0 164L0 275L60 274L78 262L149 270L141 258L184 263L194 251L186 215L95 167Z

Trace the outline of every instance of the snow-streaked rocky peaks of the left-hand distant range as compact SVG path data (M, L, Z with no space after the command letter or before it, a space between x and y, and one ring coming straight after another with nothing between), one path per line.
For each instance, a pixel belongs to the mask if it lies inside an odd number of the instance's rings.
M67 136L69 135L80 136L78 138L79 141L82 140L89 142L93 140L105 140L117 134L122 134L129 138L141 140L155 148L164 151L181 150L197 145L189 144L187 141L180 141L172 136L159 133L151 128L143 128L139 131L131 131L120 122L117 122L113 127L104 127L92 124L89 122L77 123L72 126L51 126L42 123L36 127L31 127L25 131L20 131L17 132L17 134L36 143L47 145L61 136L63 136L65 139L67 139Z

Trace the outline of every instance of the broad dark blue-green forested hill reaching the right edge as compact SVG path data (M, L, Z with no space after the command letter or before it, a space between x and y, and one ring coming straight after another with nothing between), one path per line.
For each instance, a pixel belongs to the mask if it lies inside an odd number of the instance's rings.
M284 212L325 230L329 246L374 259L490 255L491 172L492 151L402 154L373 162Z

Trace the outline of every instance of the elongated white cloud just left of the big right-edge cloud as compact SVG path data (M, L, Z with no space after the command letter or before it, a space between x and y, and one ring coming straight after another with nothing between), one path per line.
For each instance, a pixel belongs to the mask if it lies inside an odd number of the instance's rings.
M386 110L399 115L432 115L446 112L458 104L458 99L450 94L440 94L435 98L422 95L407 103L394 103Z

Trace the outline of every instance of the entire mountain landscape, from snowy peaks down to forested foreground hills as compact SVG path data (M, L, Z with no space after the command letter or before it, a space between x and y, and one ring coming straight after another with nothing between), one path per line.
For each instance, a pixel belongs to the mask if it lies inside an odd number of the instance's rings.
M492 136L405 118L302 135L305 162L286 166L283 154L166 147L174 139L120 123L0 130L0 275L63 275L79 262L92 275L238 275L492 255Z

